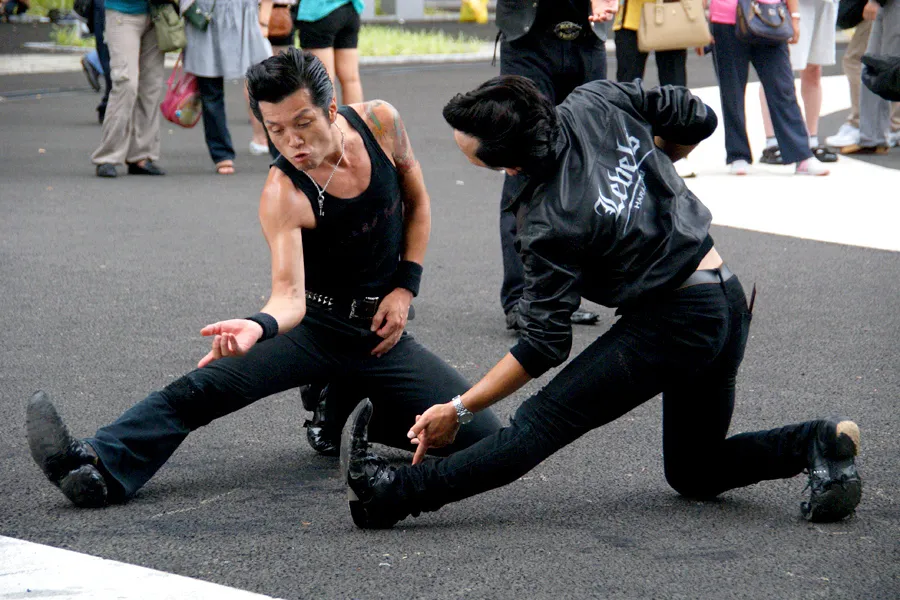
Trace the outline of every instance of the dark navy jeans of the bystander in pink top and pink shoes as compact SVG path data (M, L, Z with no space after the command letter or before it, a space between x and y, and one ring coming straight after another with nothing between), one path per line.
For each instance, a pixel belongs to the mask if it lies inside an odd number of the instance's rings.
M725 162L753 162L747 139L744 92L750 63L766 92L772 127L785 164L812 157L809 133L797 104L794 73L787 43L777 46L748 44L737 39L734 25L713 23L713 60L722 99L722 122L725 126Z

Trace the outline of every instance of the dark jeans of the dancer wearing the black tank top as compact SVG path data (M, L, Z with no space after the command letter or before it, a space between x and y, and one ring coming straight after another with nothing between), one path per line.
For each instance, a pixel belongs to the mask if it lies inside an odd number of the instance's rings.
M122 501L137 492L191 431L313 382L349 381L364 390L379 413L369 430L372 441L410 450L406 432L416 415L462 394L469 384L408 334L381 358L371 356L380 340L367 327L308 313L293 330L257 344L245 356L219 359L151 393L86 440L108 475L112 499ZM350 401L341 407L346 419L362 396L341 398ZM447 452L499 428L493 413L479 413Z

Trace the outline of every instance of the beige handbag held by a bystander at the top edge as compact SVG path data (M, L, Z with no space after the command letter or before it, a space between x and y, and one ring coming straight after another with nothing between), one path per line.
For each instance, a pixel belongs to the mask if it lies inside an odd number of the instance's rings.
M641 7L638 50L702 48L712 41L703 0L647 2Z

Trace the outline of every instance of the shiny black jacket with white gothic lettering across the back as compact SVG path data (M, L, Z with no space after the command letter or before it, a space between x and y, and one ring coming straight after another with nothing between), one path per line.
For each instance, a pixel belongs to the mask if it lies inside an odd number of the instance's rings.
M525 180L505 209L525 265L522 334L511 350L532 377L564 362L571 314L676 288L712 248L707 208L654 144L697 144L716 114L687 88L593 81L557 108L553 175Z

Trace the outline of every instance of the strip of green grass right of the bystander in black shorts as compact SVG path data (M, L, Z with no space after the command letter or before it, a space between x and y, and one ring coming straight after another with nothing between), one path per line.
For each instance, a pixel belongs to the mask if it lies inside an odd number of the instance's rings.
M407 31L398 27L364 25L359 32L360 56L408 56L412 54L462 54L477 52L483 42L460 33Z

